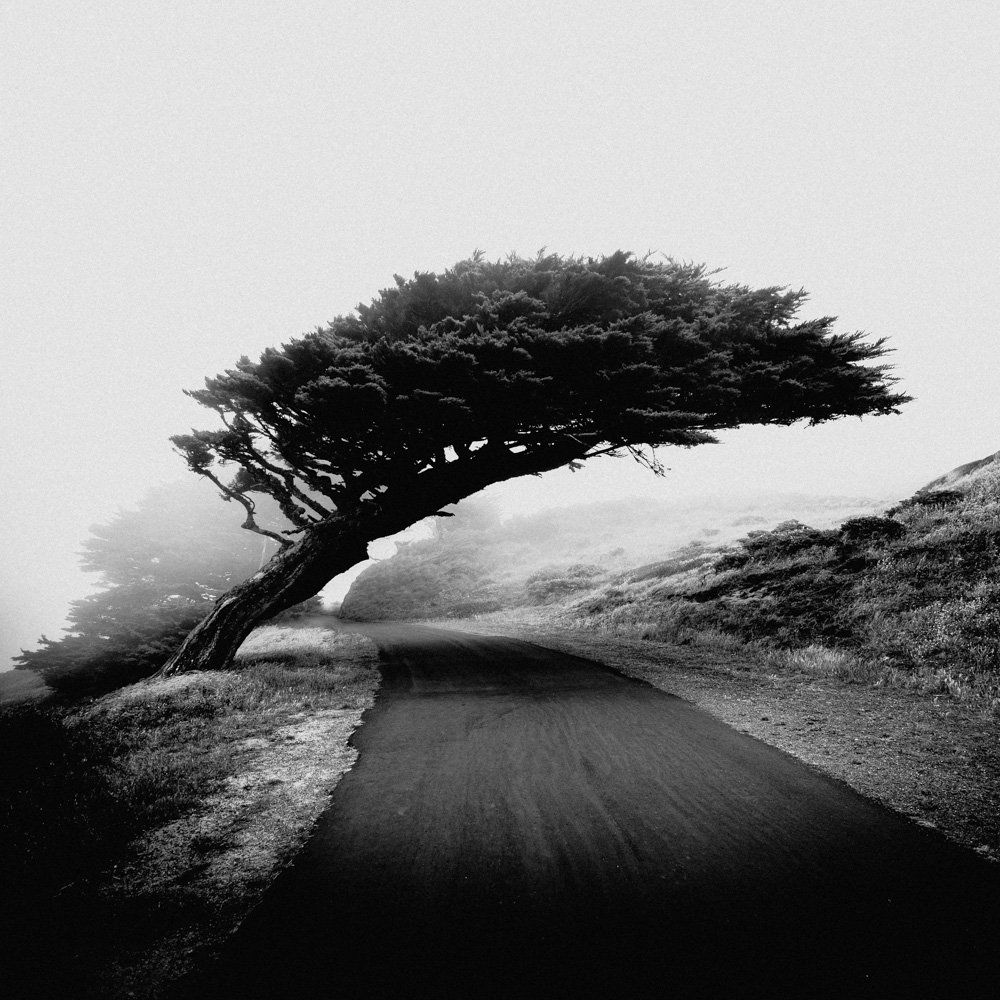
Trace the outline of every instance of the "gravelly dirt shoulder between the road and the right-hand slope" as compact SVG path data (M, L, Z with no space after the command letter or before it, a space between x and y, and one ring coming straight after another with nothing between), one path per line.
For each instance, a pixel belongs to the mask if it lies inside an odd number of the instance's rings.
M523 639L604 663L678 695L856 791L1000 859L995 716L960 702L775 672L752 649L671 645L509 614L435 626Z

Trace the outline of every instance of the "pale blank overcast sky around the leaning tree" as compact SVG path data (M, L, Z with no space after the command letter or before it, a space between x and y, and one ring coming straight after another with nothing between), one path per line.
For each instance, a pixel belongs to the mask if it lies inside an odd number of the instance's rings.
M0 4L0 669L89 525L186 474L182 389L476 249L805 288L916 397L510 510L900 497L1000 449L998 39L977 0Z

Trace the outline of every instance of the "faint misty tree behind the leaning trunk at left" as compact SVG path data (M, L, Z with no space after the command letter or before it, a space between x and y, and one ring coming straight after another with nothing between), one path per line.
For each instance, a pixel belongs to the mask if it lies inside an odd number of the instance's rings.
M280 521L273 504L269 513ZM90 530L81 565L100 574L101 589L73 602L63 636L42 636L38 649L15 657L20 668L70 694L154 673L216 598L277 548L240 531L194 480L156 487L134 509Z

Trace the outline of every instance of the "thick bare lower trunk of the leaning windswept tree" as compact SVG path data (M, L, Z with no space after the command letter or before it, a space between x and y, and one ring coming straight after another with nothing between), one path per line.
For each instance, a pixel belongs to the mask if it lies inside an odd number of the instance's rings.
M249 580L226 591L158 676L225 669L260 622L308 600L338 573L367 558L367 539L356 526L338 519L308 528Z

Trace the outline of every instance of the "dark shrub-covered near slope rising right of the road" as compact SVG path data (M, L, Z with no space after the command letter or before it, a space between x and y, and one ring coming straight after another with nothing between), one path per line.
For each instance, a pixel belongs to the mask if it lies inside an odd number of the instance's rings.
M723 551L689 549L595 589L565 614L650 639L724 632L847 679L996 703L998 598L993 474L838 530L786 522Z

